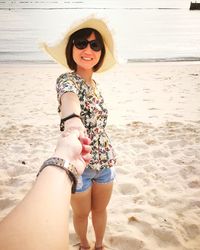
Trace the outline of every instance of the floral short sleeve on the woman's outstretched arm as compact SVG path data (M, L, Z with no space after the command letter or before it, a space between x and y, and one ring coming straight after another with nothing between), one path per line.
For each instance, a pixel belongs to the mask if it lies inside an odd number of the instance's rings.
M73 92L78 95L78 89L75 86L72 79L70 79L67 74L63 74L58 77L56 81L56 91L57 91L57 99L59 105L61 104L61 97L66 92Z

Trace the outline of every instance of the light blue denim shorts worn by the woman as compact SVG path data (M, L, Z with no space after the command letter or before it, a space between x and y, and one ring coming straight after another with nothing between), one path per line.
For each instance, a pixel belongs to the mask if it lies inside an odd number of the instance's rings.
M115 179L115 168L103 168L101 170L94 170L86 168L83 174L79 177L76 192L84 192L92 186L94 182L106 184Z

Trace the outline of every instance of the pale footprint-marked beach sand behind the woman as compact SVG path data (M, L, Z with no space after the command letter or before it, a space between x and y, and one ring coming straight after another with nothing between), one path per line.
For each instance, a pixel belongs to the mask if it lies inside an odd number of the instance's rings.
M63 72L55 64L1 64L0 220L52 155L55 79ZM106 249L200 250L200 63L124 64L95 79L118 158ZM94 242L91 221L88 236Z

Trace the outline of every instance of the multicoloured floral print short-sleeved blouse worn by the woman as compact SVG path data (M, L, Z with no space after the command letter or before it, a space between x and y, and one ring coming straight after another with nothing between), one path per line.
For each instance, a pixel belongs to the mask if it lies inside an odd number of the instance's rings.
M61 108L61 96L66 92L77 94L81 107L81 120L91 139L92 159L88 167L100 170L112 167L115 162L115 153L106 134L108 110L104 99L97 89L87 85L85 80L75 72L60 75L56 82L58 112Z

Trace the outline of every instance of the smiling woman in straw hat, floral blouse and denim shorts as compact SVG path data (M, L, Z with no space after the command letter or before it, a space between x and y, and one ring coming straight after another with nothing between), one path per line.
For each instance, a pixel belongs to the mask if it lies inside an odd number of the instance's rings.
M80 238L79 250L90 249L87 239L90 212L95 250L103 250L106 207L112 193L116 160L105 132L108 112L92 77L94 72L108 70L115 64L112 36L102 20L89 18L72 28L58 45L44 44L44 48L56 61L72 70L57 79L61 130L78 128L91 139L92 159L71 198L74 228Z

